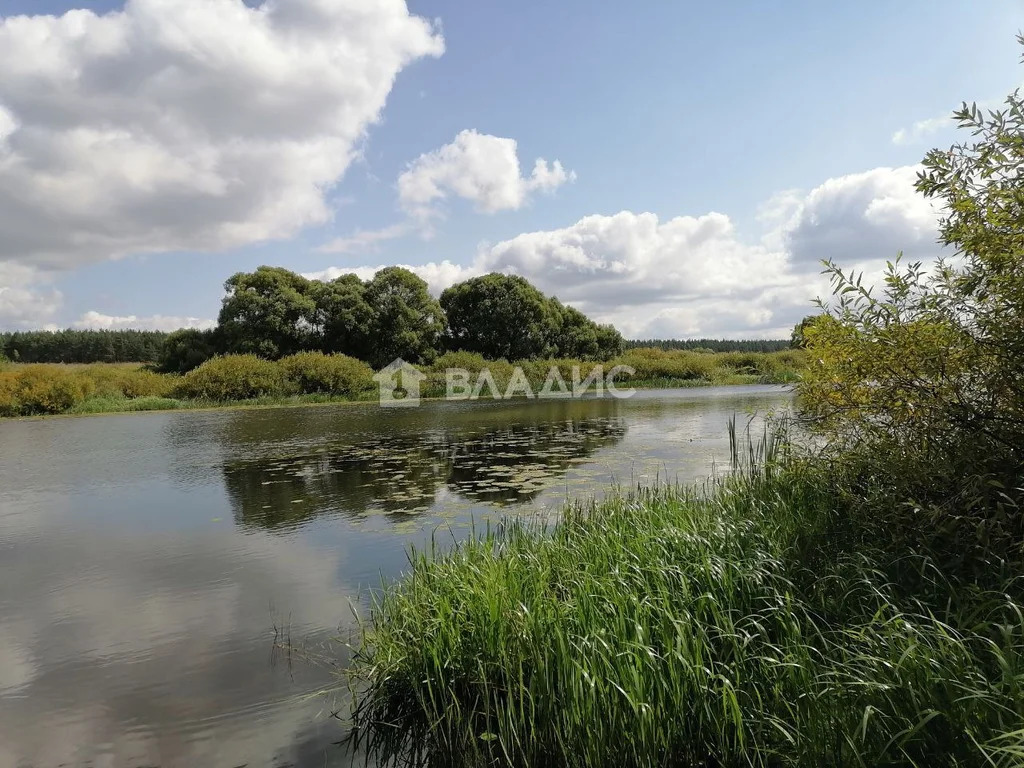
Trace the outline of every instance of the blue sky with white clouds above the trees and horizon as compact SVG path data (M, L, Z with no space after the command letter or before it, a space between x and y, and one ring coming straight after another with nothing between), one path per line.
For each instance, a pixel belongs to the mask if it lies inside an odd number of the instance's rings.
M521 274L628 338L782 338L931 260L916 164L1024 0L0 0L0 329L209 327L260 264Z

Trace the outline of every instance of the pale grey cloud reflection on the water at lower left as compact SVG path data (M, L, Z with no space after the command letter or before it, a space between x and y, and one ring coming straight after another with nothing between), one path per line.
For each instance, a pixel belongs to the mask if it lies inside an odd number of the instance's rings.
M310 729L323 760L337 729L292 696L328 681L271 665L272 626L336 633L339 557L229 539L52 530L5 550L0 765L285 765Z

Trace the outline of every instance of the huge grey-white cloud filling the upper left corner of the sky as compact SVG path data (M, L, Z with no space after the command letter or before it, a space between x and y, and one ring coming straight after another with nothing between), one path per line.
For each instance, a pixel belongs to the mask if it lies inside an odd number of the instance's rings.
M128 0L0 17L0 260L63 269L330 219L396 75L402 0Z

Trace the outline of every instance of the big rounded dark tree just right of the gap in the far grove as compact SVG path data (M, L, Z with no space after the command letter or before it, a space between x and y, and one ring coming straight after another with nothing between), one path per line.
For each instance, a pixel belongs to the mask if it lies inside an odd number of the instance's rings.
M549 300L523 278L493 272L441 294L453 351L489 359L527 359L549 352Z

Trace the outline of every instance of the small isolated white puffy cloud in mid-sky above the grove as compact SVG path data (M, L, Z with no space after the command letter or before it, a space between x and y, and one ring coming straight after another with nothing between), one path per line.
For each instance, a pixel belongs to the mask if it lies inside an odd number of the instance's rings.
M515 139L465 130L450 144L421 155L398 177L402 208L429 218L433 206L450 196L472 202L477 210L495 213L517 210L535 190L551 191L575 178L557 160L538 159L524 177L519 169Z

